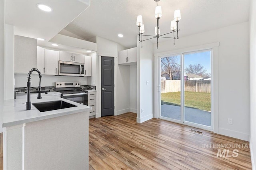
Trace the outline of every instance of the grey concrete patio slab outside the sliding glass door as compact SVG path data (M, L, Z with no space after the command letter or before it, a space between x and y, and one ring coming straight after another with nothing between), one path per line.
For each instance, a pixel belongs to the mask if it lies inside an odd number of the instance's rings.
M211 112L185 107L185 121L211 126ZM180 120L180 106L161 105L161 116Z

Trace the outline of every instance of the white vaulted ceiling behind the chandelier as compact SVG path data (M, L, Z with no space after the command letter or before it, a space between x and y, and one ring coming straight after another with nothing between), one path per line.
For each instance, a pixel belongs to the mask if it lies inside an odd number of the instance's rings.
M174 10L181 10L179 38L249 20L250 1L246 0L160 0L158 5L162 6L161 34L170 32ZM142 15L144 34L154 35L155 7L154 0L91 0L90 7L64 29L85 40L99 36L127 48L136 47L136 18ZM118 34L124 37L119 38Z

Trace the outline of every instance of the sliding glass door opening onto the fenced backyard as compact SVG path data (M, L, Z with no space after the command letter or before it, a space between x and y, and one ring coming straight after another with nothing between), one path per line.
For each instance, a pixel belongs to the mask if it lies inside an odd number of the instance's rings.
M212 127L211 50L160 58L160 118Z

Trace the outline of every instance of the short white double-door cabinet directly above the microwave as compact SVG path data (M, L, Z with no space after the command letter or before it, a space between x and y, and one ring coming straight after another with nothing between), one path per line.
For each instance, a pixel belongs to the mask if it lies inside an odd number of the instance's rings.
M60 51L60 60L71 61L76 63L84 63L84 55Z

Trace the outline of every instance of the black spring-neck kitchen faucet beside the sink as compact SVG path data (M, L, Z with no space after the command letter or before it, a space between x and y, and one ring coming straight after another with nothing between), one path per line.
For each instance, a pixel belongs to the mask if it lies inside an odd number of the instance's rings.
M39 90L38 91L30 91L30 76L32 74L33 71L36 71L39 75ZM38 69L33 68L30 69L30 71L28 71L28 83L27 83L27 102L26 102L26 110L31 110L31 101L30 101L30 93L38 93L37 95L37 99L42 99L41 93L45 93L47 94L47 92L50 92L50 90L41 90L41 73Z

